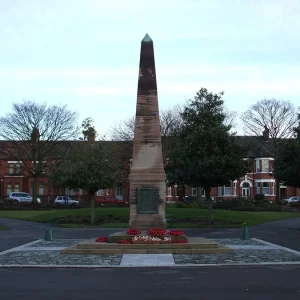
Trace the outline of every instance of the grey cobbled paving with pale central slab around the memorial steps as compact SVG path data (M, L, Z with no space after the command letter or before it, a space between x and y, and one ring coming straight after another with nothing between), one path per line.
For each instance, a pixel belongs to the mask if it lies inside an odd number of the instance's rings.
M37 240L0 252L0 267L142 267L196 265L300 264L300 252L258 239L215 239L234 254L61 254L63 248L84 240Z

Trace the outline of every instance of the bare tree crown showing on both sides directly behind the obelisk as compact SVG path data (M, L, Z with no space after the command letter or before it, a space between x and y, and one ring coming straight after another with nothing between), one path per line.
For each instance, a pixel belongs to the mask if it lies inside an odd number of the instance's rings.
M160 112L160 129L162 136L168 136L182 124L182 107L177 105ZM135 116L120 121L110 131L113 140L130 141L134 136Z

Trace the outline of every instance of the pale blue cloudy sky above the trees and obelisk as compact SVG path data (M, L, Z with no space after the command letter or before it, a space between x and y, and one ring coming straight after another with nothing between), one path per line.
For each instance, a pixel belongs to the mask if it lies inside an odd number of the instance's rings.
M299 0L0 0L0 115L23 99L67 104L105 134L135 114L146 33L161 109L201 87L238 112L300 105L299 32Z

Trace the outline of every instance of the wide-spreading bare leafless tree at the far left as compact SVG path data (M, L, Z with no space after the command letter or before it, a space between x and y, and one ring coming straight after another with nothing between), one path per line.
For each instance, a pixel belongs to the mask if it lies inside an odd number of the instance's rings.
M66 106L48 106L32 101L14 103L11 113L0 118L1 153L18 161L22 170L33 179L32 198L36 185L44 176L47 163L61 152L59 141L74 139L77 135L77 114Z

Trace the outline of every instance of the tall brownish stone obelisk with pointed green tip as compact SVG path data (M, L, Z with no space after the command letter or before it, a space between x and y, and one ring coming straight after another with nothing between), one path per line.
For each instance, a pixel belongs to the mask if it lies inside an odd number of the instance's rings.
M163 166L153 41L141 42L130 180L130 228L165 228Z

